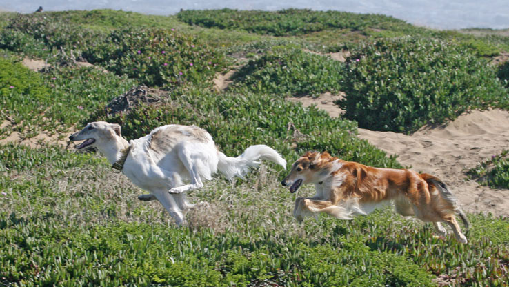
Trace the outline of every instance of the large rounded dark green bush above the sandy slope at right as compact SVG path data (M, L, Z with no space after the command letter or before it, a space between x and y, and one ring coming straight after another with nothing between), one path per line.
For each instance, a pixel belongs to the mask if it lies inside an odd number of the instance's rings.
M485 61L432 39L382 39L352 52L344 117L360 128L412 132L466 110L507 107L507 90Z

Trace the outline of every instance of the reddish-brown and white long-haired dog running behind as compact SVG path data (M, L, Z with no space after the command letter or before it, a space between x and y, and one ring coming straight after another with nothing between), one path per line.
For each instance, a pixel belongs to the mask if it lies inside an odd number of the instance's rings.
M290 192L302 184L315 184L313 197L297 197L293 216L302 221L316 212L325 212L339 219L366 215L377 206L394 203L396 211L431 221L441 235L448 224L456 239L467 243L459 228L455 213L468 230L466 215L459 208L446 184L437 177L413 170L373 168L357 162L343 161L327 152L306 152L297 159L290 174L281 182Z

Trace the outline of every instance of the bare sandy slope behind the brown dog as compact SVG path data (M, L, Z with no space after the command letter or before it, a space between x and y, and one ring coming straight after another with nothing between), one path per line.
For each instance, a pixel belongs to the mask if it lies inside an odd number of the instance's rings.
M367 139L412 169L437 175L448 184L466 212L509 216L509 190L479 186L465 172L509 149L509 112L473 111L444 126L425 126L413 135L359 129Z

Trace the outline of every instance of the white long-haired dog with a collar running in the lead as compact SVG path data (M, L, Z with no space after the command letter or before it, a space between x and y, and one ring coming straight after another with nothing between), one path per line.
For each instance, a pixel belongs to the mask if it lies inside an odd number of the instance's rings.
M97 121L70 135L83 141L78 149L96 147L115 168L134 184L150 192L143 201L159 200L178 225L184 224L183 211L192 208L183 192L201 188L202 179L212 179L219 170L228 179L243 178L259 159L267 159L286 169L286 161L265 145L250 146L239 157L227 157L217 150L212 137L197 126L161 126L149 135L130 142L121 136L116 123ZM183 184L184 180L190 184Z

